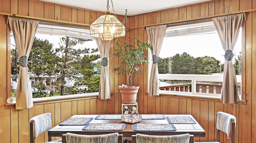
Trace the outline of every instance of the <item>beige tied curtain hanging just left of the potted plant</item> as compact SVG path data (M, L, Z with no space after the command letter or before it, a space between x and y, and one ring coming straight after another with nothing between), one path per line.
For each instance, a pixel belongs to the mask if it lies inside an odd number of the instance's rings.
M96 44L101 58L101 73L99 81L99 96L102 100L110 99L110 86L109 86L109 50L111 47L111 40L101 40L95 37Z

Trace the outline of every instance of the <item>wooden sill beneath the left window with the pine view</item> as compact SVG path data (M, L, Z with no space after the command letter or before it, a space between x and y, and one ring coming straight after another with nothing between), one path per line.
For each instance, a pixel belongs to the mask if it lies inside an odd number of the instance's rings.
M83 94L72 94L72 95L63 95L63 96L53 96L53 97L41 97L33 98L33 105L47 104L47 103L57 103L57 102L66 102L66 101L75 101L75 100L85 100L85 99L94 99L99 95L98 92L94 93L83 93ZM11 104L5 104L5 108L15 108L16 101L14 100Z

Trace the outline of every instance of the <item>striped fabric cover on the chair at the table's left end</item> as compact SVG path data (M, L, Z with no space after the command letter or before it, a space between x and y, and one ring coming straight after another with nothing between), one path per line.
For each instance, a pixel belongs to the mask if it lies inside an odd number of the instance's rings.
M52 113L44 113L44 114L32 117L30 119L30 121L33 121L35 123L35 139L41 133L44 133L52 129L51 114Z

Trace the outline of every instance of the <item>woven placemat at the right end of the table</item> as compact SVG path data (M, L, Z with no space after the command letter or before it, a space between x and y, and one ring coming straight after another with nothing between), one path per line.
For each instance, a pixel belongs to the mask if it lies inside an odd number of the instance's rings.
M196 121L187 116L168 116L167 121L172 124L196 124Z

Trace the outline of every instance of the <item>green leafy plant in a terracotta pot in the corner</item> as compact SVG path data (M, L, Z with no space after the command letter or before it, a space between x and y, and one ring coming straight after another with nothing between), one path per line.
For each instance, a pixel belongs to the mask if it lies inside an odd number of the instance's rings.
M148 50L149 48L152 49L152 47L148 43L141 43L139 40L136 39L137 41L134 42L134 45L137 45L137 48L134 48L133 45L129 44L128 39L126 41L117 40L115 43L118 48L117 50L115 50L113 57L121 57L121 63L117 66L117 68L114 69L114 71L118 71L118 75L120 73L126 75L128 85L122 85L122 87L119 86L119 90L122 95L122 102L125 104L133 104L136 102L139 86L132 87L132 74L134 73L134 71L140 73L138 67L139 64L148 64L148 61L145 60L146 56L144 56L143 49L145 48L146 50Z

